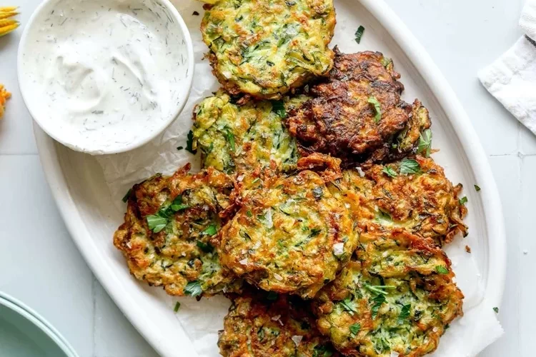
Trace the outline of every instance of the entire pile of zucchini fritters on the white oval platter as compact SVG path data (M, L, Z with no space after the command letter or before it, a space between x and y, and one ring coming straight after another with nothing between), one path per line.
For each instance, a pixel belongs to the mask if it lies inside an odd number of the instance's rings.
M223 89L194 109L202 171L129 191L114 244L131 273L226 293L223 356L434 351L462 315L442 246L467 235L467 209L430 158L427 109L400 99L382 54L327 47L331 0L211 2Z

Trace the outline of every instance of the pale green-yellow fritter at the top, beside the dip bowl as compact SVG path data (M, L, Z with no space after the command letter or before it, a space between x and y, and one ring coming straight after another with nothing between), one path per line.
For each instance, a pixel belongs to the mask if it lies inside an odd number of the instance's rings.
M204 7L208 57L231 94L280 99L332 68L332 0L220 0Z

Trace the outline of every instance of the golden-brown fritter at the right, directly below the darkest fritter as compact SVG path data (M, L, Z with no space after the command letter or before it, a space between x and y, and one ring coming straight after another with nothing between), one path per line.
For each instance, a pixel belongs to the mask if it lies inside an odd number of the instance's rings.
M346 170L341 180L329 184L334 196L351 208L362 231L406 228L439 246L459 232L467 235L462 221L467 208L458 198L461 188L452 186L431 158L418 155L372 165L361 173Z

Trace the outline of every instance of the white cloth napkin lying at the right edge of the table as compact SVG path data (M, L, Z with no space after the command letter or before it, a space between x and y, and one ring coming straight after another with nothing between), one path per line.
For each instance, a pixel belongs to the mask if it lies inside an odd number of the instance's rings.
M525 4L520 26L525 36L478 77L492 96L536 134L536 0Z

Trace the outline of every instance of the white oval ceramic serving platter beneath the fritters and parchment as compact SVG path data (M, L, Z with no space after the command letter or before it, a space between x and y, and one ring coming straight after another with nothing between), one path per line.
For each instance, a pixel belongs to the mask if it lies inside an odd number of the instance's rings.
M459 238L451 248L460 251L465 244L472 248L480 271L477 285L491 306L500 306L506 249L502 208L485 152L470 120L425 49L382 0L335 0L335 6L339 41L333 44L339 44L343 52L374 50L392 57L405 84L403 98L409 102L419 98L430 109L433 147L441 149L434 159L445 167L453 182L465 185L464 195L469 199L466 223L470 235ZM182 15L189 16L191 12ZM362 43L357 45L354 32L359 25L366 30ZM176 318L169 300L162 298L161 289L149 288L131 278L124 258L112 246L111 236L124 212L111 200L101 166L94 157L57 144L39 126L34 125L34 131L59 210L106 291L162 356L198 356L189 342L188 326L182 326ZM474 184L482 190L476 192ZM455 266L455 271L462 291L466 296L472 295L475 276L464 276L460 266ZM465 308L477 303L466 299Z

